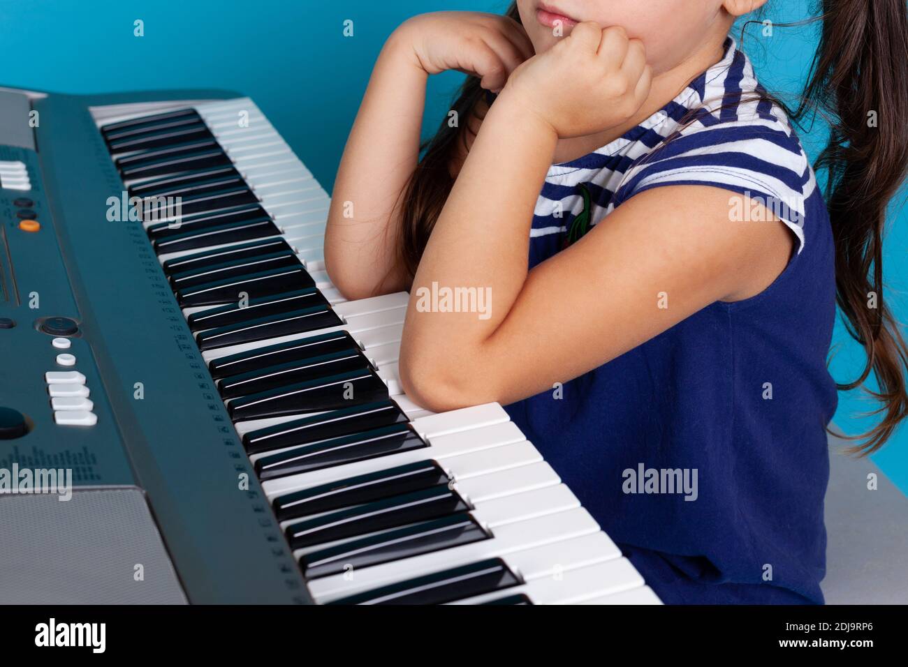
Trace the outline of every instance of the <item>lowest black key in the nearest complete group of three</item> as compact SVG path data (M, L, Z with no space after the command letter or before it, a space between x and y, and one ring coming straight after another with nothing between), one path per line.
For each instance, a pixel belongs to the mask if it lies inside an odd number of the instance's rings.
M396 528L343 544L303 554L300 566L308 578L341 574L381 563L410 558L489 539L482 526L469 514L449 515L421 524Z

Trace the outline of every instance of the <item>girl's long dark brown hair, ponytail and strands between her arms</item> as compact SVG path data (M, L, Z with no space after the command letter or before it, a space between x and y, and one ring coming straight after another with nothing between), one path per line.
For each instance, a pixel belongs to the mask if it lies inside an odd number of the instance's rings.
M838 387L862 387L871 372L876 377L879 390L867 391L882 403L872 414L883 418L858 436L863 442L852 448L867 455L883 446L908 417L908 347L883 300L885 212L908 171L908 11L905 0L817 4L822 34L801 102L792 110L768 93L766 98L796 123L814 113L830 121L829 142L814 168L827 174L836 300L848 332L867 358L860 376ZM507 15L520 21L516 3ZM469 150L475 133L471 122L481 120L485 94L479 79L469 76L451 107L460 122L441 124L423 146L423 157L401 193L400 258L410 275L454 183L451 163L459 152Z

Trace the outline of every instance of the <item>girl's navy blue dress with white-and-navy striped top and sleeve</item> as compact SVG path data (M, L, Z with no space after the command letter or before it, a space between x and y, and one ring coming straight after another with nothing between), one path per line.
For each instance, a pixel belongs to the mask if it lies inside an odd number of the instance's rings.
M666 603L823 603L834 248L801 143L760 90L729 39L723 60L660 112L553 165L533 220L530 267L578 221L608 224L623 201L663 185L745 194L794 234L796 252L762 293L716 302L507 407ZM779 224L746 208L731 216Z

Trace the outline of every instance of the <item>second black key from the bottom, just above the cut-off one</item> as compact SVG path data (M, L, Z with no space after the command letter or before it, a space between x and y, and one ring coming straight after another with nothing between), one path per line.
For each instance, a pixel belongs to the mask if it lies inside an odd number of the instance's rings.
M444 604L494 593L520 584L500 558L461 565L442 572L350 595L329 604ZM516 596L510 596L516 597Z

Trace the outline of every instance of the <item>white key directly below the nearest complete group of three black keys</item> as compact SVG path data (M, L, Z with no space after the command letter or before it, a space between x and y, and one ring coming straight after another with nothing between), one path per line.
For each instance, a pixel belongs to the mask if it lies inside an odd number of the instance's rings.
M587 510L578 507L567 512L498 526L493 530L492 538L488 540L401 558L344 574L331 574L312 579L309 582L309 591L318 602L331 602L385 584L411 579L419 574L438 572L486 558L506 556L544 544L590 535L597 533L598 530L599 526Z

